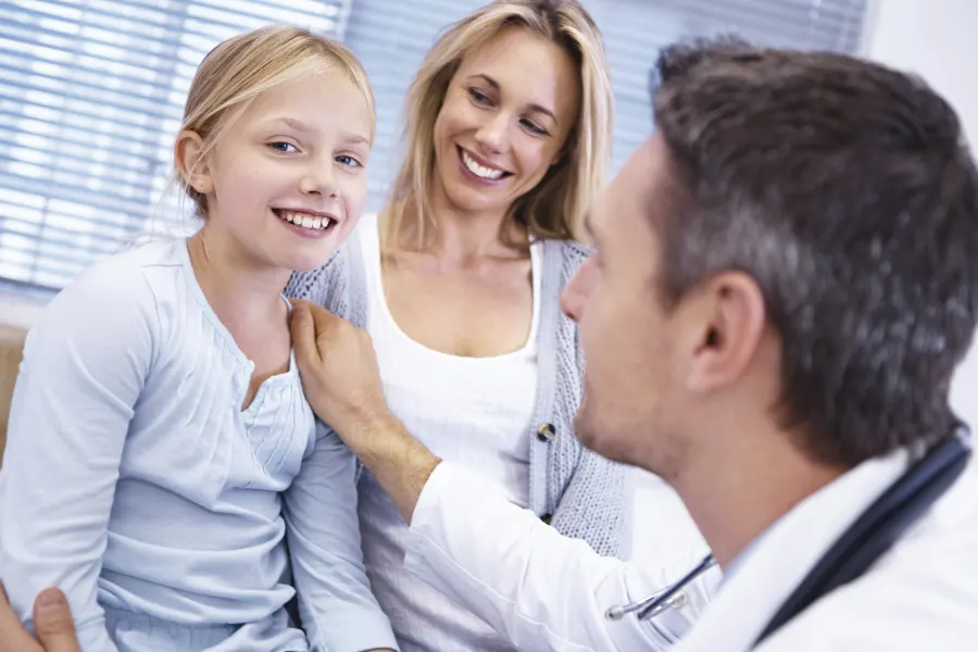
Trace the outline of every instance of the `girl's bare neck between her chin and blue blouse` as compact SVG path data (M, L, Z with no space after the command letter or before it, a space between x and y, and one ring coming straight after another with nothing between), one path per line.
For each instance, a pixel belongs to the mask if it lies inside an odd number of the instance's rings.
M229 236L206 226L187 242L193 275L208 303L235 331L237 326L277 321L291 272L256 264Z

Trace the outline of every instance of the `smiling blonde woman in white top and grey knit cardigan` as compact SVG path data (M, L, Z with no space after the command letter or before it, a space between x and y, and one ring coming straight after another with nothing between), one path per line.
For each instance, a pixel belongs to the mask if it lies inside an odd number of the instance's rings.
M611 121L602 43L579 3L478 10L411 87L389 205L286 290L369 333L391 410L437 455L605 555L623 544L624 472L574 436L582 363L557 298L588 253L576 240ZM408 526L368 473L359 514L402 652L510 649L403 567Z

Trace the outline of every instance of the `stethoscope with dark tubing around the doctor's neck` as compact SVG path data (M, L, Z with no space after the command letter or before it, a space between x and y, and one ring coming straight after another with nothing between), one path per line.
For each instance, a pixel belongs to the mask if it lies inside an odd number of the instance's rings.
M836 541L799 585L794 593L761 635L760 640L787 623L803 609L865 572L913 525L957 479L971 456L970 432L964 424L938 441L879 497ZM604 612L609 620L620 620L637 612L648 620L670 609L686 605L684 587L716 565L712 554L665 590Z

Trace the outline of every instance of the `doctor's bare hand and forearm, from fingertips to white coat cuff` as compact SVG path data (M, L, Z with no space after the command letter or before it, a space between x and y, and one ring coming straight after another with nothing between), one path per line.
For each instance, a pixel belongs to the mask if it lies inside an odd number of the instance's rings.
M411 523L422 489L440 460L387 409L369 336L305 301L292 304L290 326L309 404Z

